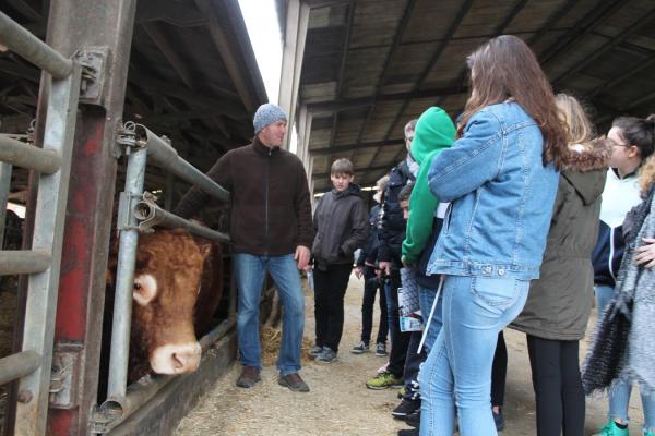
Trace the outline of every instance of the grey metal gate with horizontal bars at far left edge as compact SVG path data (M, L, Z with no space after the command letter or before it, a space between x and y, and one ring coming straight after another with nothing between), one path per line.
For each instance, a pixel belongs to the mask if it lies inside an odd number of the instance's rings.
M0 360L0 384L19 380L15 434L45 435L63 222L80 96L80 62L67 59L0 12L0 43L43 69L49 85L43 148L0 135L3 174L10 166L39 173L32 250L0 251L0 274L28 275L23 346ZM0 192L9 191L4 175ZM7 195L0 195L5 198ZM3 206L3 210L5 205Z

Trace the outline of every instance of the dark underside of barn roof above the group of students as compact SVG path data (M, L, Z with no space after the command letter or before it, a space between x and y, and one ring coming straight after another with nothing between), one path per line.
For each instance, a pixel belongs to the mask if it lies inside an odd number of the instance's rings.
M556 90L587 104L600 132L655 112L652 0L307 0L300 100L313 114L315 191L348 157L372 184L403 156L403 126L431 105L454 118L465 58L500 34L523 38Z

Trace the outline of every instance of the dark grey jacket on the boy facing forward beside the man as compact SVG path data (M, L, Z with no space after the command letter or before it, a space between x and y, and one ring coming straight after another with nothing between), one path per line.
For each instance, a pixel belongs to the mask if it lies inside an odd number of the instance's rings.
M318 267L353 265L355 250L366 243L368 235L359 186L350 184L345 191L332 190L323 195L317 204L313 222L317 237L311 253Z

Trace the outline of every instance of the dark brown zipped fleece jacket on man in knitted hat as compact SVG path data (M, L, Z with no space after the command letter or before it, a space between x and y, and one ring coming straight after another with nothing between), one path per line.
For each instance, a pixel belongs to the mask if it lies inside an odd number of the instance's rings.
M270 148L255 137L252 144L227 152L207 175L231 194L235 253L279 256L294 253L298 245L311 247L314 232L309 187L296 155ZM190 218L209 198L192 187L175 213Z

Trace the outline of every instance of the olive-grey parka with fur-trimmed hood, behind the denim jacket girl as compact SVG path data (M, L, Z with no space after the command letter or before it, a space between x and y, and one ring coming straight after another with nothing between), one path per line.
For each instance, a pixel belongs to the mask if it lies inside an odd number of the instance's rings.
M593 148L591 147L593 145ZM539 338L584 337L594 295L591 254L611 147L595 140L561 171L540 277L512 328Z

